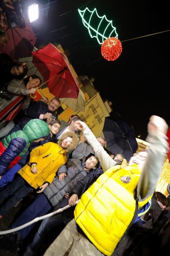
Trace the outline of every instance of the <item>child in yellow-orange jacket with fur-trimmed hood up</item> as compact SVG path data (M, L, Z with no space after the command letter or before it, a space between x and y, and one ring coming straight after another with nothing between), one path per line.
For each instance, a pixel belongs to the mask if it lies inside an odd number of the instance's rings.
M78 136L73 132L62 135L59 143L48 142L31 151L29 163L19 170L19 176L8 187L1 191L0 204L9 196L9 200L0 207L0 218L13 205L27 196L32 189L42 193L53 181L58 168L67 161L67 152L78 145Z

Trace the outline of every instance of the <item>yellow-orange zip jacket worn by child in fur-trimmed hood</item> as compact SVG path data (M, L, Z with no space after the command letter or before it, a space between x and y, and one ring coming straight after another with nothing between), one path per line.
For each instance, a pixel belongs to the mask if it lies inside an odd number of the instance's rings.
M37 173L32 173L29 165L25 165L18 173L36 189L45 181L51 183L59 167L66 161L66 151L58 144L48 142L31 151L29 163L37 163Z

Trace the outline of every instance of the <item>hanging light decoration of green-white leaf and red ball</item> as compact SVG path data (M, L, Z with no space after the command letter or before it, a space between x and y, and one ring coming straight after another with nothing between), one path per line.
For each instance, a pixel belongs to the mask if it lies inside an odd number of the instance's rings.
M118 39L116 28L112 25L112 20L108 20L106 15L99 16L96 8L90 11L86 7L83 11L80 9L78 11L91 38L95 37L102 45L101 53L104 59L108 61L118 59L122 52L122 44Z

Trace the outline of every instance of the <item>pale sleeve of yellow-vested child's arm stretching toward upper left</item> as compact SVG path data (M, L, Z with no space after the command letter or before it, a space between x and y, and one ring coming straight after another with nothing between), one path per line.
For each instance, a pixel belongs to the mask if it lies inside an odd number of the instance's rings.
M88 144L92 147L96 157L98 157L103 172L106 172L117 163L107 154L88 126L83 122L81 122L81 124L83 125L82 131L85 138L87 139Z

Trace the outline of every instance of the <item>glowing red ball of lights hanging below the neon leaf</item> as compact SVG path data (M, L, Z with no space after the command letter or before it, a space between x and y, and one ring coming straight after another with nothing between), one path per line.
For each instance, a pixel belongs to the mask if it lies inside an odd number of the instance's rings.
M118 38L110 37L107 38L101 47L101 53L104 59L113 61L118 59L122 52L122 44Z

